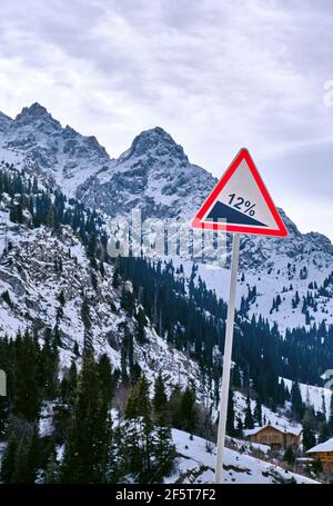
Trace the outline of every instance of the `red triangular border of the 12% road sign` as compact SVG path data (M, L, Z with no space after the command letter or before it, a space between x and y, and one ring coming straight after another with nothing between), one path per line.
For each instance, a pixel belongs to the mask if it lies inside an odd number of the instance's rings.
M235 172L235 170L238 169L238 167L240 166L240 163L243 160L246 161L246 163L252 172L252 176L254 177L254 180L255 180L256 185L259 186L259 189L260 189L268 207L270 208L270 211L273 215L273 218L279 227L278 229L263 229L260 227L251 227L251 226L246 226L246 225L241 226L241 225L228 225L228 224L219 224L219 222L216 224L216 222L211 222L211 221L210 222L201 221L203 216L206 214L206 211L209 210L211 205L218 199L220 192L222 191L222 189L224 188L224 186L226 185L229 179L232 177L232 175ZM278 237L287 236L287 229L286 229L284 222L282 221L282 219L278 212L278 209L276 209L263 180L261 179L261 176L246 148L242 148L239 151L239 153L233 159L230 167L225 170L225 172L223 173L222 178L220 179L220 181L218 182L215 188L211 191L208 199L203 202L203 205L199 209L195 218L193 218L193 220L192 220L191 226L193 228L221 230L221 231L225 231L225 232L243 232L243 234L254 234L254 235L260 235L260 236L278 236Z

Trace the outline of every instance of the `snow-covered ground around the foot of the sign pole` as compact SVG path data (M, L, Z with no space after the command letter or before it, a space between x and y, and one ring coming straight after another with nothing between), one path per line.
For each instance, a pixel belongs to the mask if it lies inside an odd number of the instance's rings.
M176 468L165 483L209 484L214 483L216 458L215 445L206 449L206 440L183 430L172 429L172 438L179 454ZM284 470L283 468L225 448L223 482L225 484L315 484L313 479Z

